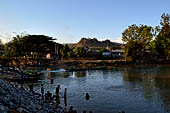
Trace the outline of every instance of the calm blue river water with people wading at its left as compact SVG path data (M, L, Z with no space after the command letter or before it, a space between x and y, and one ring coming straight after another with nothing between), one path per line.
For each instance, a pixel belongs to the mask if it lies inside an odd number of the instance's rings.
M54 83L50 83L50 79ZM61 85L61 104L64 106L64 88L67 88L67 104L78 113L83 110L94 113L170 113L170 66L138 66L113 70L82 72L45 72L43 80L36 84L40 91L55 93ZM85 93L90 99L87 101Z

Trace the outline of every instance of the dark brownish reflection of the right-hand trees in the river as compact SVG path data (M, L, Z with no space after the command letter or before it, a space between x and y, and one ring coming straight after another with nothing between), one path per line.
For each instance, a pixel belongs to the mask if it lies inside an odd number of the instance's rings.
M170 67L128 67L124 69L123 80L133 86L141 85L148 102L162 101L165 112L170 111ZM155 99L156 98L156 99Z

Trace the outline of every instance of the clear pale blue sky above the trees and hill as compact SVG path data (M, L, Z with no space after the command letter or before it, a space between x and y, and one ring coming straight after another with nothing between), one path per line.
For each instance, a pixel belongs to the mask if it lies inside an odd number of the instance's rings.
M25 33L59 43L82 37L121 42L132 24L159 25L169 5L170 0L0 0L0 39Z

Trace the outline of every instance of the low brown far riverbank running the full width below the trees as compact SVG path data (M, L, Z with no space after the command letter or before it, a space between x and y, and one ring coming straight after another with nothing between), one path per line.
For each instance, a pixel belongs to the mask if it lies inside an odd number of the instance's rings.
M107 69L114 67L136 66L136 65L170 65L170 60L165 59L94 59L94 58L67 58L67 59L0 59L0 64L6 67L12 66L19 69L28 68L54 68L54 69L70 69L72 67L82 70L90 70L105 66Z

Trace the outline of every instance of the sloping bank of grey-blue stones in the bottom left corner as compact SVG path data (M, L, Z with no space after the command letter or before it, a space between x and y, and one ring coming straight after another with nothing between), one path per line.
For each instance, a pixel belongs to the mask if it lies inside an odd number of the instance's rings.
M64 109L38 93L0 80L0 113L64 113Z

